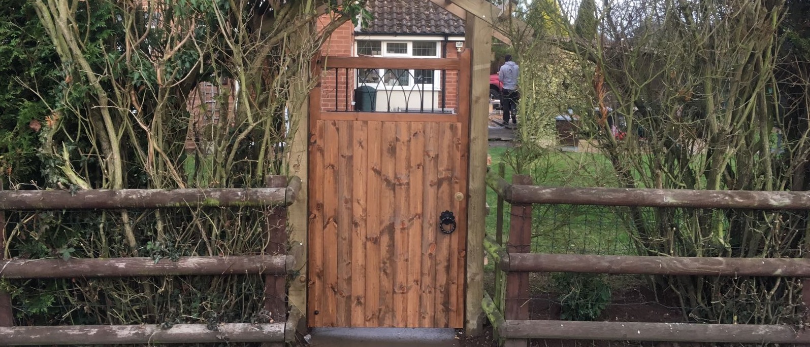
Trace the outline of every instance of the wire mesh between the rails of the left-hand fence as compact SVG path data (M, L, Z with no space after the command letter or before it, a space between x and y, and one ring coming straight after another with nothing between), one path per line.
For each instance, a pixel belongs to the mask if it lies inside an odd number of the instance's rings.
M262 208L6 211L6 259L250 256L271 242ZM2 271L2 270L0 270ZM265 276L0 279L15 325L273 323Z

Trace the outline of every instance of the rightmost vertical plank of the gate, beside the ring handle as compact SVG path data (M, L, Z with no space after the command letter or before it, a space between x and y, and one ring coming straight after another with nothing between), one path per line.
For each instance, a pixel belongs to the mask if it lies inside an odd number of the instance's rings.
M464 133L465 126L462 124L455 126L454 137L454 158L456 158L456 168L454 170L454 191L462 193L462 199L454 199L456 220L458 221L458 229L454 234L456 238L455 254L455 269L453 274L455 276L456 290L454 291L454 298L457 308L454 315L450 317L451 328L464 327L464 298L465 298L465 278L467 269L467 141ZM483 239L482 239L483 242Z

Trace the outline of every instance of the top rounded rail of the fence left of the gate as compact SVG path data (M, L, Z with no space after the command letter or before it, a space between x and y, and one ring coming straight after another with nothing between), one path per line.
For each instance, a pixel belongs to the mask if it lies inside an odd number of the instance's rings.
M288 206L300 190L298 177L280 188L5 190L0 210Z

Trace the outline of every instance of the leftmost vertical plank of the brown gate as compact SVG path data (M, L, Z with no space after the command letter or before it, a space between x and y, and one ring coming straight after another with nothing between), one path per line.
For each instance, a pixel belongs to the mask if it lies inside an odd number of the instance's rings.
M323 149L323 121L315 122L313 133L309 138L309 155L313 162L309 165L309 282L307 284L307 322L311 327L319 327L323 323L323 173L326 170ZM318 315L314 312L318 311Z

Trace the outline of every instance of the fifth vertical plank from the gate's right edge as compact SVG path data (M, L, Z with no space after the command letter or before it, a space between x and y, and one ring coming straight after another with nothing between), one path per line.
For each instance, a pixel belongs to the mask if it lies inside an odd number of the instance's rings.
M394 180L394 326L407 326L408 238L411 218L411 124L397 122Z

